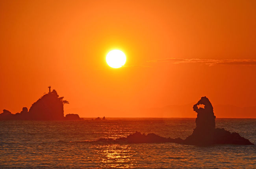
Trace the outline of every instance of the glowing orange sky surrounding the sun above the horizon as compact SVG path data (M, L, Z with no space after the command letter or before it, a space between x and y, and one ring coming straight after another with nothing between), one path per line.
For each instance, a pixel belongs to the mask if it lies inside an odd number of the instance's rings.
M30 108L49 85L81 117L195 117L151 108L202 96L256 106L255 29L254 0L1 0L0 110ZM125 67L106 64L111 49Z

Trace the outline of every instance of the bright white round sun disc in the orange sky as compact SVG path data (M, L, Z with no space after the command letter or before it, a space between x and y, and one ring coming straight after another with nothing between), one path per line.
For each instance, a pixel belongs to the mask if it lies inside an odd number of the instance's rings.
M121 50L111 50L106 56L106 61L112 68L121 68L126 62L126 56Z

